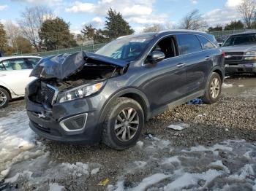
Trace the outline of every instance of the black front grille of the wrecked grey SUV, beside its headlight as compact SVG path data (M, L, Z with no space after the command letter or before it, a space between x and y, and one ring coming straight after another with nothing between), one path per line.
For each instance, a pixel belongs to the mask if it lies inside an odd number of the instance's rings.
M44 82L41 82L41 88L37 94L37 102L51 106L55 93L56 90L54 90L52 87L49 87Z

